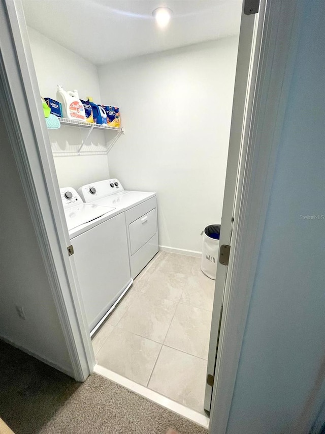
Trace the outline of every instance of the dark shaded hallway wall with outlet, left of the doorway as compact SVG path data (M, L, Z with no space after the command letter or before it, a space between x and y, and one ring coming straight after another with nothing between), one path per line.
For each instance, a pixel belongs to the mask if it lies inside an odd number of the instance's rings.
M0 136L0 338L73 375L1 112Z

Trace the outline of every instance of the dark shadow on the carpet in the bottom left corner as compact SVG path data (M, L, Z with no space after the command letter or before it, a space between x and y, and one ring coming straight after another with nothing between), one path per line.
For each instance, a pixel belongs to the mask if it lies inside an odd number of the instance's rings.
M39 432L80 386L0 340L0 417L15 434Z

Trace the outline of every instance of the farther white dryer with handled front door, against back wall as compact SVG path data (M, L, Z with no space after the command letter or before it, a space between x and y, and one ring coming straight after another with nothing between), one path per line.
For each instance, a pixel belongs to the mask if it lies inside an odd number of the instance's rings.
M124 211L131 277L134 279L158 252L156 193L128 191L117 179L78 189L85 202Z

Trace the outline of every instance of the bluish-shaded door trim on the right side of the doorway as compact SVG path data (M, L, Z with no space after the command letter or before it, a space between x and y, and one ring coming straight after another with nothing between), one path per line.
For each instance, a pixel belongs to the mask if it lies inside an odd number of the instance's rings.
M259 249L275 172L280 133L293 75L301 20L293 0L268 0L261 54L234 214L233 240L226 278L219 351L215 368L209 430L228 426L241 347Z

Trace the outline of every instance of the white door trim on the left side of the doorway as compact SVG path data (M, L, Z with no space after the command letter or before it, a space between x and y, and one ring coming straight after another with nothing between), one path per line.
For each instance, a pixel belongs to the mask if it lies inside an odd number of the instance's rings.
M2 0L0 12L1 110L67 342L70 374L84 381L93 371L95 359L78 297L74 259L67 252L69 233L44 113L38 103L40 94L22 4L20 0Z

